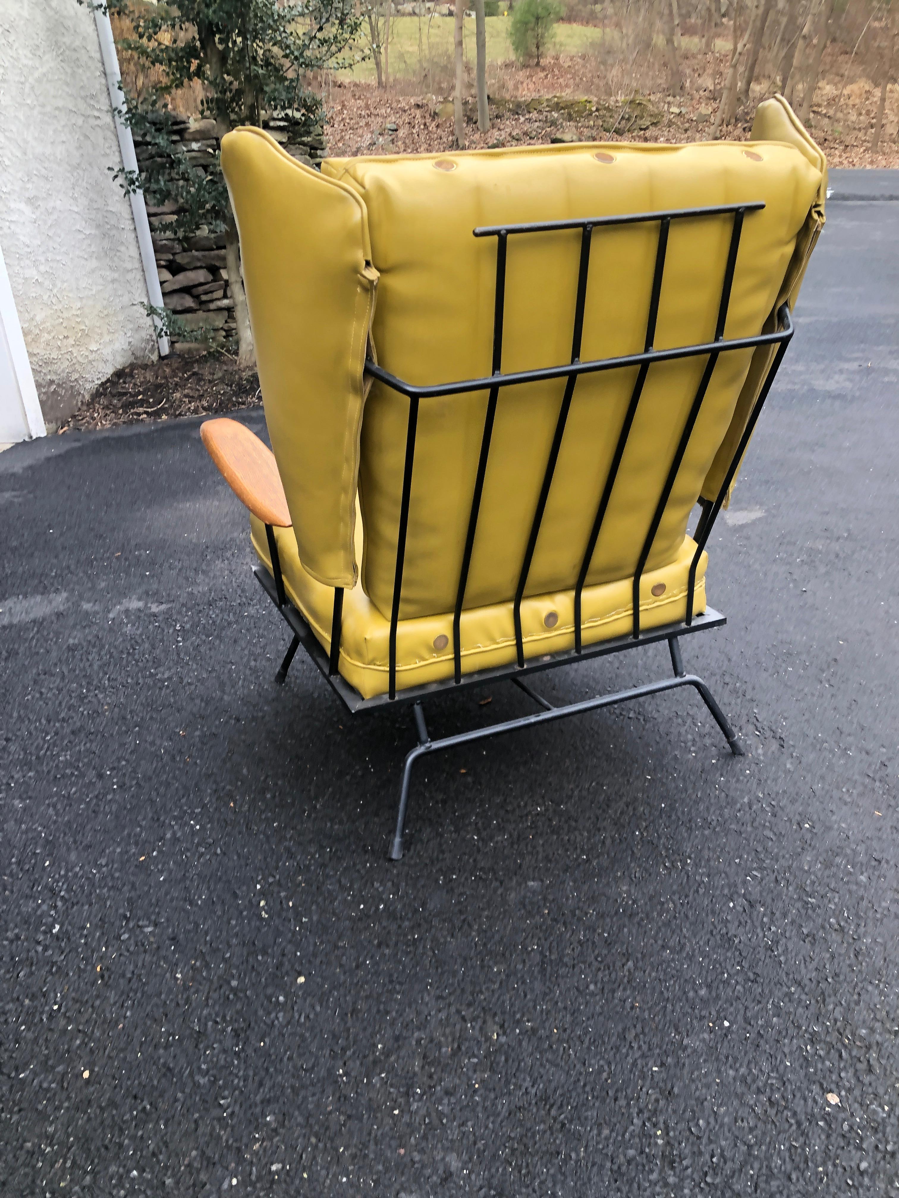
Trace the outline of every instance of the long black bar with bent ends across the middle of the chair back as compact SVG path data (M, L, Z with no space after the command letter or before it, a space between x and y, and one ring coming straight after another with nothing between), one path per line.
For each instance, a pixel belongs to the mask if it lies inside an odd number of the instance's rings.
M598 374L603 370L623 370L627 367L641 367L644 362L677 362L681 358L699 358L705 353L726 353L731 350L753 350L756 345L779 345L792 335L794 326L790 319L786 328L774 333L759 333L756 337L735 337L726 341L701 341L696 345L682 345L672 350L647 350L642 353L626 353L619 358L597 358L591 362L575 362L559 367L541 367L537 370L517 370L506 375L487 375L482 379L464 379L461 382L444 382L430 387L414 387L412 383L397 379L374 362L366 362L366 373L385 383L400 395L410 399L445 399L447 395L466 395L472 391L489 391L490 387L517 387L525 382L543 382L548 379L565 379L568 375Z

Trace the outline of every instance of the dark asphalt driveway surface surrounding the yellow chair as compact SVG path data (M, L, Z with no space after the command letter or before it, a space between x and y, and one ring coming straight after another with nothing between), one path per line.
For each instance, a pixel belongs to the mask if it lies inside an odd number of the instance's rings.
M399 865L410 714L274 686L198 422L0 455L1 1194L899 1192L897 244L831 206L710 546L749 755L683 691L441 755Z

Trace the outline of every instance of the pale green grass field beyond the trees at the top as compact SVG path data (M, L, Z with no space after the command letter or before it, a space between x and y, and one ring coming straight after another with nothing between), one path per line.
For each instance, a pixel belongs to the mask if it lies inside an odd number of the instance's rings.
M505 62L512 58L508 41L508 17L487 18L487 58ZM392 79L414 79L421 75L422 62L451 62L453 56L452 17L394 17L391 22L390 73ZM421 53L420 53L421 34ZM583 54L603 40L603 31L590 25L556 25L553 54ZM475 22L465 20L465 55L475 59ZM342 72L343 73L343 72ZM372 81L374 62L360 63L345 73L351 79Z

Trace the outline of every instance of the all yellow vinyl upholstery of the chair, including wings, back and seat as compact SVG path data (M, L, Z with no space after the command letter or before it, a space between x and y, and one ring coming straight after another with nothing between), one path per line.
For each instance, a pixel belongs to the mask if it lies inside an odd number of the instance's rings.
M752 146L330 159L321 175L260 131L224 139L266 422L294 520L292 530L276 530L285 586L326 647L332 588L348 588L339 668L363 697L387 690L409 413L409 400L379 381L366 393L369 329L369 353L412 385L489 375L496 238L475 238L476 226L759 200L764 210L744 219L724 335L773 328L823 219L826 167L779 99L761 105L753 137ZM731 223L672 222L656 349L713 339ZM583 361L642 351L658 228L595 230ZM502 370L567 363L580 231L521 235L508 247ZM716 471L723 477L771 357L749 349L718 359L640 582L642 628L684 618L695 551L687 521ZM656 363L648 373L586 576L585 645L632 627L633 575L706 361ZM635 375L584 375L575 386L521 605L525 657L573 645L573 588ZM500 393L461 617L463 672L514 660L512 599L563 389L560 379ZM421 401L399 689L453 673L452 612L485 405L485 392ZM258 521L253 545L271 568ZM696 612L705 610L705 567L704 555Z

